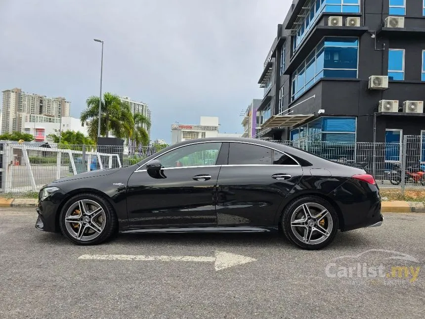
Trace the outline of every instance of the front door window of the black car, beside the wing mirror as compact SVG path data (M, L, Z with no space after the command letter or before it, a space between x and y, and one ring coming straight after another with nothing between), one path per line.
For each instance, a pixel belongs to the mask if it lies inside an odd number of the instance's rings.
M183 146L157 158L165 168L215 165L221 143Z

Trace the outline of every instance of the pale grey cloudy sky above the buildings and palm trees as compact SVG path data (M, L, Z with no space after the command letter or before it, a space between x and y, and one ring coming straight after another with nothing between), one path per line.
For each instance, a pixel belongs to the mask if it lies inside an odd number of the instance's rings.
M174 121L239 114L262 98L257 80L290 0L0 0L0 90L64 96L79 117L103 91L149 104L152 138Z

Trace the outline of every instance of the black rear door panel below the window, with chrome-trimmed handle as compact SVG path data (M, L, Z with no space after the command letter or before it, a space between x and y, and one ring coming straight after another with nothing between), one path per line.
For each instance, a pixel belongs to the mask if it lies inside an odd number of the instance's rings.
M277 226L279 206L301 177L300 166L222 166L217 182L217 225Z

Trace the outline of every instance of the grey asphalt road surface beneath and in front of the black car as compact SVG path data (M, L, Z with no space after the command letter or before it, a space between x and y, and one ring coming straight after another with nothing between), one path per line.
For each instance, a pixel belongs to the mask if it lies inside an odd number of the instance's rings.
M33 210L3 208L0 318L425 318L425 214L384 217L321 251L277 234L121 234L79 247L35 229ZM214 251L255 261L216 271ZM93 254L145 260L79 259ZM394 266L407 267L402 278ZM374 267L389 277L369 276Z

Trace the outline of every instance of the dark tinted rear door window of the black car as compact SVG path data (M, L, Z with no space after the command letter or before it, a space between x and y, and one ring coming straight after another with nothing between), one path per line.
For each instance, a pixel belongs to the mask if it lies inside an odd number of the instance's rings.
M272 150L252 144L230 143L229 165L271 165Z

